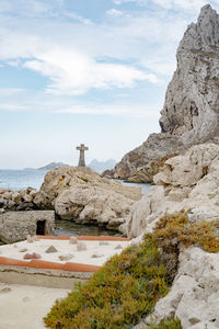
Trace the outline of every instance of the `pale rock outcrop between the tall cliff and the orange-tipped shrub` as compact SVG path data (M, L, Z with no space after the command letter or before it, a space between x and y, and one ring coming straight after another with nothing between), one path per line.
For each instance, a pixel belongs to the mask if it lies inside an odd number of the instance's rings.
M129 237L151 231L164 213L182 209L192 220L214 220L219 214L219 146L191 147L184 156L165 161L155 186L130 209L120 229Z

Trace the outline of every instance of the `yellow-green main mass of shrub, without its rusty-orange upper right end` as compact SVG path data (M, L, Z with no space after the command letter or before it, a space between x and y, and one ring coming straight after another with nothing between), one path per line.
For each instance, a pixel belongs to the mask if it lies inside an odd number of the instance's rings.
M90 281L56 302L45 324L49 328L129 328L166 295L168 282L155 237L149 235L142 245L114 256Z

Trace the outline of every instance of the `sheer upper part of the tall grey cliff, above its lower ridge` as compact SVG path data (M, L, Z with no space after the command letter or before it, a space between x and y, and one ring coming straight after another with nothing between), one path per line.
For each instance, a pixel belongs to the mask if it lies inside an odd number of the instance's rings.
M185 144L219 134L219 15L205 5L177 49L177 69L169 84L160 124Z

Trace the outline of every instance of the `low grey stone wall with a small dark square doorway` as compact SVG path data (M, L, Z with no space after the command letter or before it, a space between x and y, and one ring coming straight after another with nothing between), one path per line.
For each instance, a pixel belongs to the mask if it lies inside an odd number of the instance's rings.
M54 211L5 212L0 214L0 240L12 243L26 236L49 235L54 231Z

